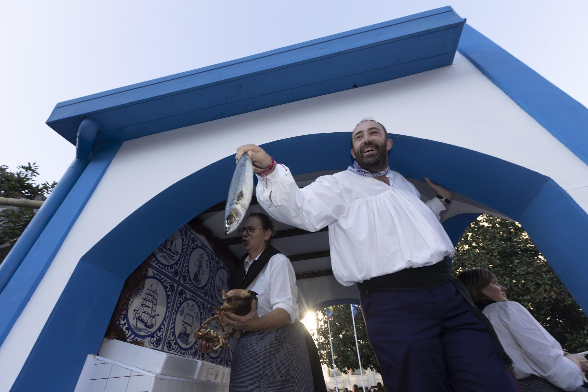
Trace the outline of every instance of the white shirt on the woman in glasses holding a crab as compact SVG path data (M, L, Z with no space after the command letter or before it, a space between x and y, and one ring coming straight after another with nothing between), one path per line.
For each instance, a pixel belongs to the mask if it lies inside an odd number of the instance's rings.
M263 253L263 251L262 251ZM261 255L261 253L258 255ZM243 263L249 262L249 256ZM254 261L253 263L256 263ZM250 265L245 268L249 270ZM290 315L290 323L293 323L298 314L298 288L296 288L296 274L292 263L285 255L278 253L273 255L268 264L263 267L259 275L255 277L252 283L247 287L258 293L258 315L261 317L270 311L282 308Z

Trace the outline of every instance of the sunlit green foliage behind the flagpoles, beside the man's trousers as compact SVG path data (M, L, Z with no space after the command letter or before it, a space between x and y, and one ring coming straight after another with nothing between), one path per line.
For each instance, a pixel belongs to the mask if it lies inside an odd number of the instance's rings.
M318 311L318 328L315 339L319 349L320 362L328 367L333 367L333 360L330 353L329 329L327 315L324 309ZM380 371L376 355L373 352L372 344L368 340L368 331L361 309L355 316L355 328L358 333L359 354L362 357L362 368ZM355 336L353 335L353 321L349 305L333 306L333 315L330 318L330 329L333 337L333 354L335 354L335 366L347 374L349 369L359 369L358 351L355 347Z

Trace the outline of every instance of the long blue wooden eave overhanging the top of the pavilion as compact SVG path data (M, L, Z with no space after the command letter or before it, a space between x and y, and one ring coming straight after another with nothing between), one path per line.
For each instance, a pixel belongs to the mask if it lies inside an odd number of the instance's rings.
M443 67L465 19L449 6L194 71L61 102L47 124L71 142L132 139ZM365 61L370 58L370 61Z

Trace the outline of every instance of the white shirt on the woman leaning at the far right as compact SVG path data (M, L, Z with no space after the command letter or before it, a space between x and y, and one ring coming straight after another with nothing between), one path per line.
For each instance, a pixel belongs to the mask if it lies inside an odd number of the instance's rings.
M566 391L582 386L580 368L563 356L562 346L523 305L513 301L497 302L487 305L482 313L490 320L502 347L512 358L516 378L534 374Z

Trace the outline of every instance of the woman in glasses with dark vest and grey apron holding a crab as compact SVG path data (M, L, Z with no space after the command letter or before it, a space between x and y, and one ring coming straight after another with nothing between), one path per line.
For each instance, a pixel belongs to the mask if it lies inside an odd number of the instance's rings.
M239 230L246 254L230 275L229 290L255 291L258 299L246 315L225 312L227 338L232 328L244 331L237 341L229 392L326 389L318 351L306 327L298 321L296 276L288 257L271 244L276 230L268 215L253 212ZM211 343L198 341L203 353Z

